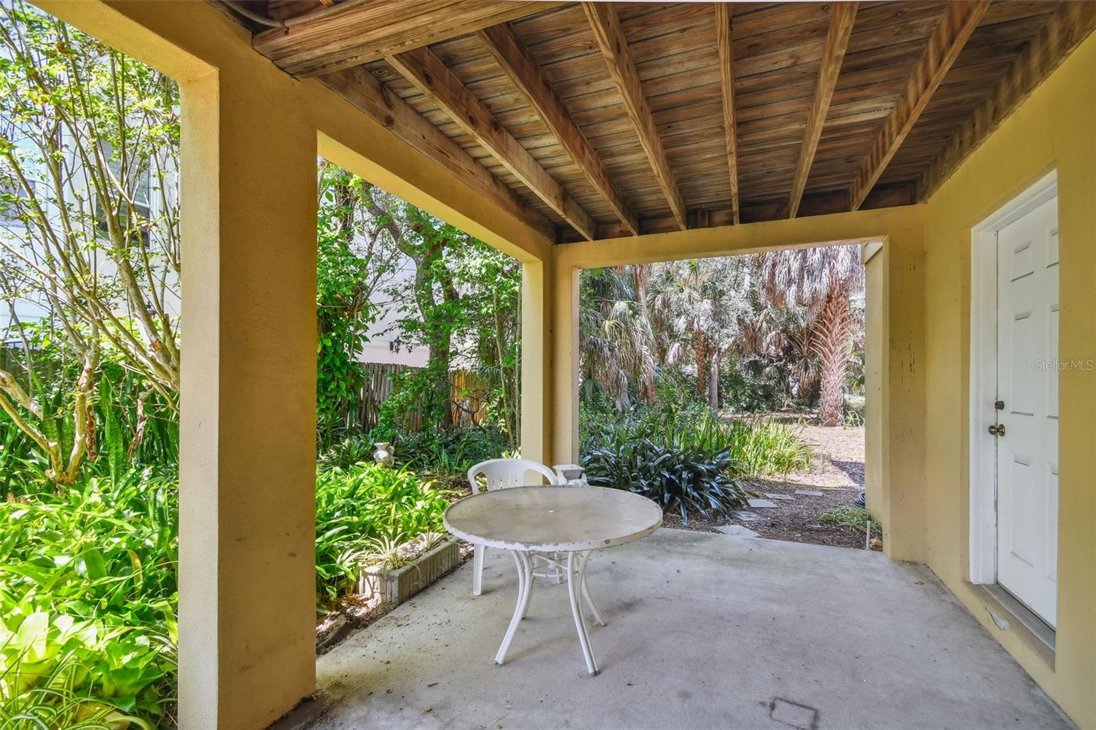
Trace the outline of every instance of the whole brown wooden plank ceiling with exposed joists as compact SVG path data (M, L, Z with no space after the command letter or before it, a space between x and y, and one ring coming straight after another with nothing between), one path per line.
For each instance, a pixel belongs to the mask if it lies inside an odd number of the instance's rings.
M1096 2L219 0L557 241L924 199Z

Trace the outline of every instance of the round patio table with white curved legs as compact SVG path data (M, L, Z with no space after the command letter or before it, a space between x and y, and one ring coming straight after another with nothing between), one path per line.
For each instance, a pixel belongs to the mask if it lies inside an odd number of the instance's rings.
M597 663L586 634L583 600L605 626L586 588L592 550L646 537L662 526L662 510L639 494L603 487L514 487L466 497L445 512L445 527L473 545L510 550L517 564L517 605L494 661L502 664L533 595L533 555L567 554L567 591L586 660Z

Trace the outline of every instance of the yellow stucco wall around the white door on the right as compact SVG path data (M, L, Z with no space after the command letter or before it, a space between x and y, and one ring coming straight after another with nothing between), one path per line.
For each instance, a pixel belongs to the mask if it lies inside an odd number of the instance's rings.
M1096 727L1096 373L1060 373L1057 653L1000 630L968 582L971 227L1058 170L1062 361L1096 357L1096 35L928 201L925 273L929 567L1082 727Z

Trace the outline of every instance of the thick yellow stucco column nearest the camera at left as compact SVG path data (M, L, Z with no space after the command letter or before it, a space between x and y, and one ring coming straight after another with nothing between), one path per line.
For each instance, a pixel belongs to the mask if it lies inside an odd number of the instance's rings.
M316 132L252 76L182 84L180 723L315 685Z

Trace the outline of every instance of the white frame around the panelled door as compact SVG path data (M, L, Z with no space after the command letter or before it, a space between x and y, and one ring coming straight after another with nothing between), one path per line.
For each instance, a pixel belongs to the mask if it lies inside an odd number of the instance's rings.
M970 582L997 582L996 449L986 430L997 395L997 231L1058 195L1058 171L971 228L970 239Z

